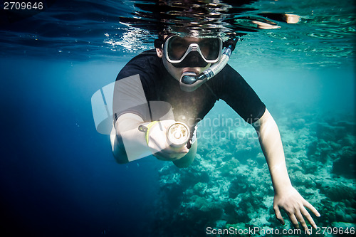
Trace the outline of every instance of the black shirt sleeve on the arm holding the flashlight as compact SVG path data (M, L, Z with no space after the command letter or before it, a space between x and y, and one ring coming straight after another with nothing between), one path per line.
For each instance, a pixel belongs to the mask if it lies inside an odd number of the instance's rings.
M130 60L117 75L112 110L114 120L125 113L134 113L145 122L172 119L169 103L154 101L157 80L157 55L155 51L146 51ZM154 93L155 94L155 93Z

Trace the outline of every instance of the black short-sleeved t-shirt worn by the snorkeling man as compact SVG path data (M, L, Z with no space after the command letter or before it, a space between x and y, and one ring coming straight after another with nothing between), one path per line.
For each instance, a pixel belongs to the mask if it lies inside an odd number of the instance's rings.
M157 56L155 50L145 51L132 58L117 75L116 83L137 74L140 75L140 83L142 83L144 98L148 106L120 107L120 104L127 103L131 99L136 100L140 92L137 92L138 89L135 90L136 85L130 85L130 88L122 89L126 95L125 99L120 100L115 89L113 99L115 118L125 112L134 112L145 122L149 122L152 120L152 113L147 111L150 110L152 101L168 102L172 106L174 120L186 122L189 127L194 127L202 120L219 99L224 100L249 123L256 122L266 109L246 80L230 65L226 65L214 78L192 92L181 90L179 82L164 68L162 58ZM143 104L143 102L139 103Z

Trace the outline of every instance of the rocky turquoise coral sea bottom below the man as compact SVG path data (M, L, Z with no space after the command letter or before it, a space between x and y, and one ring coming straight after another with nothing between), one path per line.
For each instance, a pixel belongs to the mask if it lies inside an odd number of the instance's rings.
M221 116L209 115L200 125L189 168L167 162L159 170L152 236L304 236L291 232L286 213L285 226L274 215L271 177L256 132ZM354 118L295 110L274 117L292 184L321 214L310 212L319 227L312 236L355 234Z

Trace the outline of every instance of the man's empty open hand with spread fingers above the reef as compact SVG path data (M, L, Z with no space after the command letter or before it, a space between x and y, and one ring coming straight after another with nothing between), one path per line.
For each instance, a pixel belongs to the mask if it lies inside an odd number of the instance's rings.
M276 213L276 218L284 225L284 220L281 215L280 208L286 211L286 214L290 218L290 221L293 223L295 228L299 228L298 222L303 226L305 231L308 230L307 224L304 221L304 218L307 218L309 223L316 228L313 218L310 216L309 212L305 209L308 208L310 211L315 214L315 216L320 216L319 212L312 206L308 201L303 199L297 190L290 186L290 188L275 194L273 201L273 209ZM309 233L309 231L308 231Z

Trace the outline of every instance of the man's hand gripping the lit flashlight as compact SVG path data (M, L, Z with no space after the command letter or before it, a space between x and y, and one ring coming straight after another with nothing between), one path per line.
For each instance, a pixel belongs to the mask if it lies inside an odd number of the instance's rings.
M174 161L184 157L189 152L187 145L183 147L171 147L167 142L167 129L174 124L174 120L157 122L151 129L148 139L148 147L157 159Z

